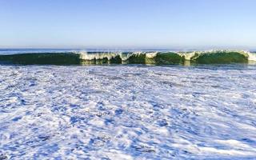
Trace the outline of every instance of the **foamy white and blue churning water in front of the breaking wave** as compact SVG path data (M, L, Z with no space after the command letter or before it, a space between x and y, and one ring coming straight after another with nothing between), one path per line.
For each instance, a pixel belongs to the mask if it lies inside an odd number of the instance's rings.
M0 159L254 159L256 66L0 66Z

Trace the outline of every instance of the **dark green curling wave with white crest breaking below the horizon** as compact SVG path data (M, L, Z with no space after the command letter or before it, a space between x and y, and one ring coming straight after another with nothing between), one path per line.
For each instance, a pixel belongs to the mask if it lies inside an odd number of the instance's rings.
M256 53L243 50L208 50L193 52L26 52L1 54L1 64L102 65L152 64L184 65L256 62Z

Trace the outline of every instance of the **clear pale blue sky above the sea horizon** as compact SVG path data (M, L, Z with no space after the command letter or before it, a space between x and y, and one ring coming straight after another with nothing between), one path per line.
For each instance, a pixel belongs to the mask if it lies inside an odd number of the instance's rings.
M256 49L255 0L0 0L0 48Z

